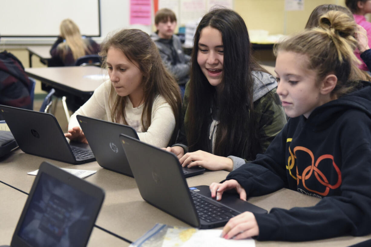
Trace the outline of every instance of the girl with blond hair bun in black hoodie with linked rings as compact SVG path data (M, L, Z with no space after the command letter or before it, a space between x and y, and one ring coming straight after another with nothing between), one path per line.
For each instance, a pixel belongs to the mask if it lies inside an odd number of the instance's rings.
M276 46L277 94L290 117L265 154L210 185L220 200L289 188L322 198L313 207L272 208L229 220L224 238L307 241L371 232L371 83L349 81L356 24L329 11L319 28Z

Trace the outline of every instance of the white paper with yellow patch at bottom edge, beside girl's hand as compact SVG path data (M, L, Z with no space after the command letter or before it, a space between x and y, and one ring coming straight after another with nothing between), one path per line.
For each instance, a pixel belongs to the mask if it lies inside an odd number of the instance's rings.
M169 228L165 234L162 247L255 247L252 238L244 240L224 239L222 230L197 230L195 228Z

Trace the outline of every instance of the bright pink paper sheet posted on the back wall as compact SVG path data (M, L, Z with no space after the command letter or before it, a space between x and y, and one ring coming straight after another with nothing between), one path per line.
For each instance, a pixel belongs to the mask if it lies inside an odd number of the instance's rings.
M151 0L130 0L130 24L151 25Z

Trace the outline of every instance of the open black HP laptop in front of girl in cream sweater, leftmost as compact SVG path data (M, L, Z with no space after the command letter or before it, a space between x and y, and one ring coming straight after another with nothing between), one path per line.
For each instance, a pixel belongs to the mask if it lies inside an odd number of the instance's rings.
M67 141L52 114L3 105L0 114L24 153L70 164L95 160L89 144Z

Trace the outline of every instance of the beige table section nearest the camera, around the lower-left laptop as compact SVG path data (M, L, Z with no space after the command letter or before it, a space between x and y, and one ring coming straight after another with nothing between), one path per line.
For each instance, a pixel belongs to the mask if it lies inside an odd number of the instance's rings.
M22 213L27 195L0 183L0 195L11 200L1 200L0 203L0 245L10 244L14 230ZM88 247L129 246L129 243L94 227L89 238Z

